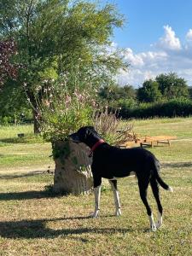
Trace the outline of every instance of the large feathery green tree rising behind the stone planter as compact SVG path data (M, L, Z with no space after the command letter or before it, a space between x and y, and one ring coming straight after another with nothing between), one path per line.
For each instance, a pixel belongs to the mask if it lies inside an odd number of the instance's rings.
M0 38L15 38L20 63L18 81L35 106L34 91L44 79L67 74L98 84L112 80L127 65L119 52L109 53L113 28L123 17L112 4L69 0L0 0ZM35 106L36 107L36 106ZM35 108L34 108L35 109ZM37 112L34 110L34 120ZM37 131L37 122L35 122Z

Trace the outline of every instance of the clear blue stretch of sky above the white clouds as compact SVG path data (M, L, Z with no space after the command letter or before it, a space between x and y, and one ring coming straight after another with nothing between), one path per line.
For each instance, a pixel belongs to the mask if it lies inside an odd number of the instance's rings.
M113 0L125 15L123 30L117 29L114 40L122 47L137 51L148 49L163 33L163 26L172 26L177 36L185 37L192 26L191 0Z

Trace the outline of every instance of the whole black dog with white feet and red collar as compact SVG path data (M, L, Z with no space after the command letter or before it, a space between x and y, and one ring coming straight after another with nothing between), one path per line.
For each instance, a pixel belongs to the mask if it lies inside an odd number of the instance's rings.
M73 143L85 143L93 154L91 171L94 180L96 218L100 210L100 195L102 177L108 178L113 189L116 216L121 215L117 178L126 177L134 172L137 176L141 199L145 205L150 222L150 228L155 231L162 224L163 208L160 203L159 184L163 189L172 191L160 177L160 164L154 154L144 148L116 148L105 143L92 126L84 126L78 132L69 136ZM147 189L150 183L154 198L157 202L159 214L158 222L154 224L153 213L147 201ZM159 183L159 184L158 184Z

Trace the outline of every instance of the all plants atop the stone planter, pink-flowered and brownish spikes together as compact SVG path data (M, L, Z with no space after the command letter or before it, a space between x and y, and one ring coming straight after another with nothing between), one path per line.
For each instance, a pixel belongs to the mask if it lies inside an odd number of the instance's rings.
M36 87L34 109L44 138L51 142L65 140L80 127L94 125L96 131L112 145L130 139L132 125L120 127L121 119L117 118L117 113L110 113L107 107L99 108L96 95L96 88L89 79L84 84L76 81L74 86L68 83L67 77L56 81L44 80L41 86Z

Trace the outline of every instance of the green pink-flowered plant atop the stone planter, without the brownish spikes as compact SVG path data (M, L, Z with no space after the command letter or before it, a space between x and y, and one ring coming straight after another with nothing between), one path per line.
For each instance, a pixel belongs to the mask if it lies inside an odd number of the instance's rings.
M62 80L44 80L37 89L36 102L41 133L49 141L64 140L81 126L92 125L96 102L89 89L79 84L71 88Z

